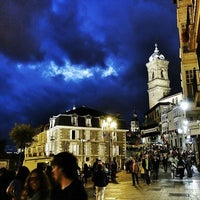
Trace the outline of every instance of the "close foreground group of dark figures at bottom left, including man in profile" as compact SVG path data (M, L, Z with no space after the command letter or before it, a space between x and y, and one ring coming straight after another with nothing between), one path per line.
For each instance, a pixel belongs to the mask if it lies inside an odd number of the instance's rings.
M0 169L2 200L87 200L87 192L78 176L77 158L62 152L54 156L52 166L32 171L20 166L17 172Z

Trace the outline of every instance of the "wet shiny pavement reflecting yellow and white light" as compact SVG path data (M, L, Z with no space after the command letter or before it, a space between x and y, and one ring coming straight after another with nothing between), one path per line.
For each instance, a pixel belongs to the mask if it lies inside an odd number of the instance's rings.
M88 200L95 200L95 190L91 179L85 186ZM117 173L117 183L109 183L105 191L105 200L200 200L200 174L194 168L193 177L187 174L181 180L171 178L170 172L160 169L159 180L147 185L142 179L139 185L132 186L131 174L126 171Z

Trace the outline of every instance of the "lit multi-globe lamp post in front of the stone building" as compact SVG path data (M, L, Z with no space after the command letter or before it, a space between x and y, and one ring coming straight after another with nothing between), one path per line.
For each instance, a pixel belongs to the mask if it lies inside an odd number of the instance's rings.
M108 133L108 162L109 162L109 175L111 175L111 151L113 151L113 148L111 148L111 134L113 131L115 131L117 128L117 123L112 117L107 117L106 120L103 120L102 123L102 130L103 132L106 131ZM112 152L113 156L113 152Z

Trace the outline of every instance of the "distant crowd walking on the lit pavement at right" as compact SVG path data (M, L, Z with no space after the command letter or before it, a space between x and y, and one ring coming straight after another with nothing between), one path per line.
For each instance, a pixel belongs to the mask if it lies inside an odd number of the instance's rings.
M144 149L125 163L125 169L132 175L132 184L138 184L138 177L151 184L151 180L158 180L160 169L164 173L170 172L171 178L184 176L192 177L192 165L195 163L191 151L178 149Z

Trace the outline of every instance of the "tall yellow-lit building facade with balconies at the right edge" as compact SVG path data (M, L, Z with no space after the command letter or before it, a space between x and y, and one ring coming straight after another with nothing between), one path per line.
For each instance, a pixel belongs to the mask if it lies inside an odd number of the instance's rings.
M200 159L200 1L174 0L180 41L181 77L184 99L190 104L186 111L188 135L195 140L196 160Z

